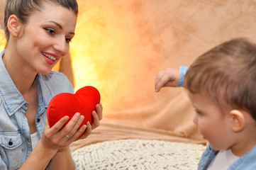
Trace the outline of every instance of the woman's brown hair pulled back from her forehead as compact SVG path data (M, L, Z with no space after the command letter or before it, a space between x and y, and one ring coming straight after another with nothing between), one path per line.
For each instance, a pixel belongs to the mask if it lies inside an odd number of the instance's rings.
M71 9L78 14L78 5L76 0L7 0L4 8L4 33L6 40L9 40L9 30L7 27L8 19L11 15L16 15L21 23L28 22L28 18L34 11L40 11L45 3L53 3L65 8Z

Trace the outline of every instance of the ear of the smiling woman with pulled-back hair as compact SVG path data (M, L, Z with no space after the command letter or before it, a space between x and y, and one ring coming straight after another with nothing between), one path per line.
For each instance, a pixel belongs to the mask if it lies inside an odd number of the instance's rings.
M17 16L11 15L7 23L8 30L13 37L18 37L18 33L21 30L21 22L18 20Z

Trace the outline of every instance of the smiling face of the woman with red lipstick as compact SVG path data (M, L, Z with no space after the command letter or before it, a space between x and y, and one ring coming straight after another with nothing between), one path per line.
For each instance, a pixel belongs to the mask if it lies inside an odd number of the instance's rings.
M60 5L45 3L23 25L17 40L17 52L32 72L48 74L69 51L77 16Z

